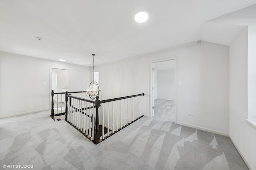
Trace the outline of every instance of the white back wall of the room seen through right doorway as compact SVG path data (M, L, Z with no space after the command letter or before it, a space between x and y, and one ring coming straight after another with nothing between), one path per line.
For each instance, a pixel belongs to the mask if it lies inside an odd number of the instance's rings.
M174 69L157 71L157 98L174 100Z

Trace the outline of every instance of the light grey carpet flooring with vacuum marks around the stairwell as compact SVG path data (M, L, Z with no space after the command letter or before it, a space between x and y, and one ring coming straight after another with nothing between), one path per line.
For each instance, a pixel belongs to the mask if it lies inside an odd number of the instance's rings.
M154 117L142 117L98 145L67 122L53 121L50 111L2 118L0 169L248 170L228 137L174 124L172 106L159 101Z

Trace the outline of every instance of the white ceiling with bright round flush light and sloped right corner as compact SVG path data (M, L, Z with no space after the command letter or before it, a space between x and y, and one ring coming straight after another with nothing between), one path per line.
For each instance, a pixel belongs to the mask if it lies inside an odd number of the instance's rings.
M0 50L92 66L92 54L98 65L198 40L230 45L243 26L209 20L254 4L256 0L0 0ZM136 23L134 15L141 10L149 19Z

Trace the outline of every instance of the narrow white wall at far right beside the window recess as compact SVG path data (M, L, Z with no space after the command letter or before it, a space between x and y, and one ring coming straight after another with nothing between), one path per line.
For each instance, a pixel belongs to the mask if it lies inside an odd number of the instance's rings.
M247 118L247 55L248 29L230 46L230 138L252 169L256 169L256 131Z

